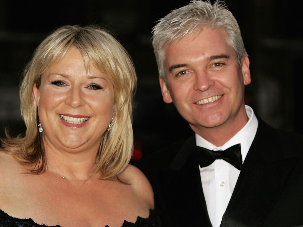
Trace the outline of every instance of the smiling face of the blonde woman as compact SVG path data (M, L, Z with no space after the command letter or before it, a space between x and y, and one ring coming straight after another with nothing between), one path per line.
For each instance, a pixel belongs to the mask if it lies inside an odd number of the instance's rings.
M48 68L40 87L34 85L33 91L46 149L98 150L115 115L114 88L93 65L85 71L77 48L71 47L60 62Z

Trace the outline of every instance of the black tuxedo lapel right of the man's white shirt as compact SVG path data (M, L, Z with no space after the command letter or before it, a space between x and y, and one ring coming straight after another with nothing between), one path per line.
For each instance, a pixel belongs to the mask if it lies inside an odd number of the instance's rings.
M286 183L296 158L287 155L274 129L259 120L221 227L262 226Z

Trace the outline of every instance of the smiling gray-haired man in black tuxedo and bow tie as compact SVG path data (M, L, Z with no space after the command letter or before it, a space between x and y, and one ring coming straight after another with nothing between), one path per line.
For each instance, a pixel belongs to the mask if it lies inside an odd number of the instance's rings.
M159 21L153 47L163 99L195 132L138 163L163 226L303 226L303 137L245 106L249 59L231 12L192 1Z

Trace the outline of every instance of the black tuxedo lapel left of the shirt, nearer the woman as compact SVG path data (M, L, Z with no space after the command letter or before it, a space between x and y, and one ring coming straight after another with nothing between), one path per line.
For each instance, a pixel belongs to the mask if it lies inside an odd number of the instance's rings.
M198 164L191 153L195 137L187 140L168 169L159 169L163 199L174 219L174 226L209 226Z

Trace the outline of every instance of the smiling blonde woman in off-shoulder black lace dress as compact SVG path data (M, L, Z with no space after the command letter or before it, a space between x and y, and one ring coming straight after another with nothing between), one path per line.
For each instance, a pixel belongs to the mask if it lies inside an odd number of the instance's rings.
M2 140L0 224L158 226L151 186L128 165L136 76L122 46L100 28L63 26L24 75L27 130Z

